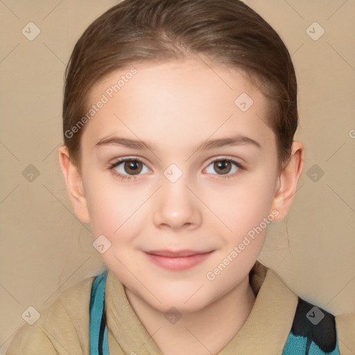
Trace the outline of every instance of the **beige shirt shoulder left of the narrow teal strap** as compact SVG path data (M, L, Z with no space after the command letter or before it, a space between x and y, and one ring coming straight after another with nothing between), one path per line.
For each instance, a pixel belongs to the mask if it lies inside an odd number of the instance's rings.
M69 286L46 308L33 325L24 324L12 338L6 355L89 354L88 277Z

